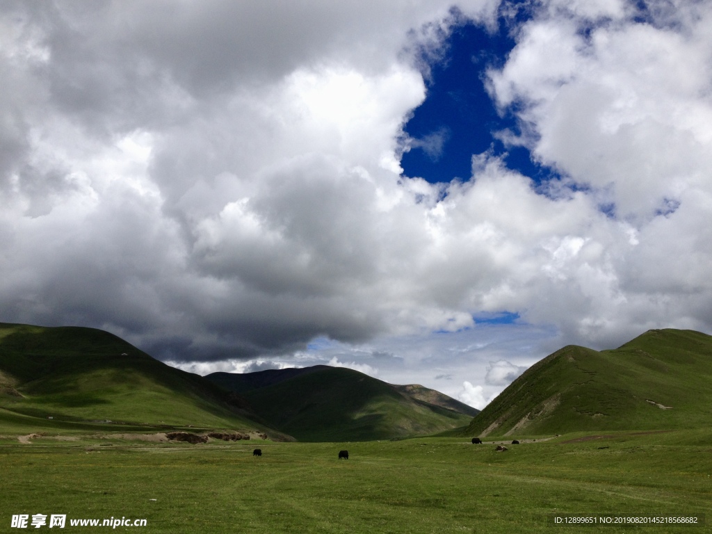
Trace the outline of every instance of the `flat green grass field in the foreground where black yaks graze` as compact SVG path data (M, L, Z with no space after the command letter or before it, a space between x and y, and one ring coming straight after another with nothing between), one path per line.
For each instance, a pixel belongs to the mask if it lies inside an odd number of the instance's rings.
M518 436L520 439L526 436ZM550 514L712 520L712 429L358 443L0 439L0 532L13 514L145 518L147 533L694 533L557 527ZM256 446L261 458L252 456ZM337 452L348 449L350 459ZM46 528L46 527L44 527ZM103 531L108 527L70 527ZM35 530L35 529L33 529Z

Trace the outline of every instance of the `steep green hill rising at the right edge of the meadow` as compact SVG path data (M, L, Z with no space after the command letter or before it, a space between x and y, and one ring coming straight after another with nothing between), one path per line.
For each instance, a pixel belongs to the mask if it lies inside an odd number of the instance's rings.
M684 429L712 420L712 336L649 330L614 350L570 345L515 379L468 436Z

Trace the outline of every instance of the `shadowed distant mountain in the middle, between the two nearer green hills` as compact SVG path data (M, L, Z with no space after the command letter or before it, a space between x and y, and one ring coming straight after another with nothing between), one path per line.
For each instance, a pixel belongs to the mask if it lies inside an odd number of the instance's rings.
M256 414L300 441L366 441L465 426L477 410L418 385L394 386L319 365L243 375L207 375L240 392Z

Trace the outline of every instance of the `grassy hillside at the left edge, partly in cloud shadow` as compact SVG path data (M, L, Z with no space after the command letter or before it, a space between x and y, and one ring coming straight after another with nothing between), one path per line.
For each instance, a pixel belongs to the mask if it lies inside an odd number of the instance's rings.
M51 417L51 419L49 419ZM0 323L0 424L262 429L244 399L92 328Z

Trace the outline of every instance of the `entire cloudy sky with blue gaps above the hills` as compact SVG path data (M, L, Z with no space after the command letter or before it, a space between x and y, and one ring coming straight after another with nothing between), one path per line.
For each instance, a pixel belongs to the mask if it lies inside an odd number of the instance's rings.
M0 4L0 321L482 408L712 333L712 4Z

